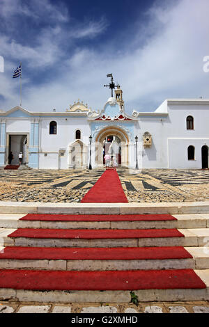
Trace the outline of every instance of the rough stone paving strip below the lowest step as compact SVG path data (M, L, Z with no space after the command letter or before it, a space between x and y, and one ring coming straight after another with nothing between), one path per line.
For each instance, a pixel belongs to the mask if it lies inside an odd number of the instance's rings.
M157 302L124 304L82 304L82 303L15 303L0 302L0 313L209 313L209 302Z

